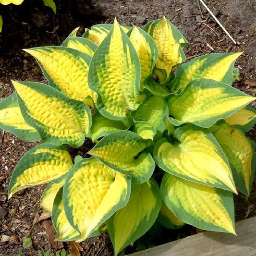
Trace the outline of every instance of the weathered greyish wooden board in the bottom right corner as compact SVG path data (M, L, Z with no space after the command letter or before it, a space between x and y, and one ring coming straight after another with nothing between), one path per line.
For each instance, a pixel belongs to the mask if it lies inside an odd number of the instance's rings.
M256 256L256 217L235 225L237 236L203 232L129 256Z

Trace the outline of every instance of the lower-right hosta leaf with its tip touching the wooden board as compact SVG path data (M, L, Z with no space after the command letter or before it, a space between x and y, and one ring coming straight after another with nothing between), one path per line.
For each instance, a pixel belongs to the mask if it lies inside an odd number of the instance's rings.
M231 192L165 173L161 194L167 207L183 222L203 230L235 234Z

